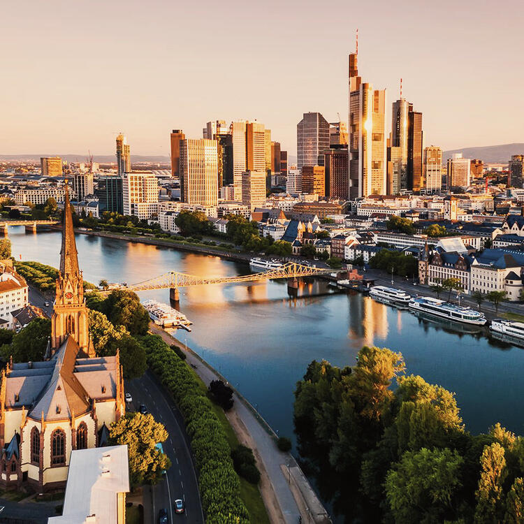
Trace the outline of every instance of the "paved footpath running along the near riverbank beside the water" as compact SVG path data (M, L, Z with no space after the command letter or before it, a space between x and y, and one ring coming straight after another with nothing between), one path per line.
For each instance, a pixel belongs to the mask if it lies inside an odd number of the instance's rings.
M180 340L158 326L150 324L150 329L160 335L166 343L176 343L181 349L184 348ZM206 386L217 379L227 382L219 372L189 348L187 348L187 363L193 367ZM277 448L275 443L277 435L270 425L238 391L235 391L233 398L235 403L226 416L239 442L253 449L261 471L259 488L271 523L297 524L299 516L303 523L330 523L326 509L300 470L295 458L291 453L282 453Z

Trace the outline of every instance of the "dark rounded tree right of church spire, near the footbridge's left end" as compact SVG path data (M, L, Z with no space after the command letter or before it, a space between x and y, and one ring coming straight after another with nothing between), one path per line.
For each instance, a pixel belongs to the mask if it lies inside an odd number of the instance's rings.
M126 289L111 291L103 303L102 312L113 326L124 326L131 335L145 335L150 325L150 316L140 304L140 298Z

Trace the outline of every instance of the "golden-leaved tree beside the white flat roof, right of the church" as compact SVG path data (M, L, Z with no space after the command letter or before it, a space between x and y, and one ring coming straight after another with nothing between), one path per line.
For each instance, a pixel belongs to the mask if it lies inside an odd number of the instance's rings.
M159 442L166 442L168 432L151 414L127 413L110 425L109 435L111 444L127 445L132 486L156 484L171 466L168 456L157 448Z

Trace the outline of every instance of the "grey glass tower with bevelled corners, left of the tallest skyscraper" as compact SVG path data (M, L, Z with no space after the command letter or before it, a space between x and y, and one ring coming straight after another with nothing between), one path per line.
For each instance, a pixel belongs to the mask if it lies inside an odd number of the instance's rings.
M297 167L323 166L329 149L329 123L319 112L305 112L296 126Z

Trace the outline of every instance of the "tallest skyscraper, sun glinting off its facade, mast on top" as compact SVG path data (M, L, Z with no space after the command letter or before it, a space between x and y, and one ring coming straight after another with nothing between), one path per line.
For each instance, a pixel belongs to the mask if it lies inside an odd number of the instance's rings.
M349 55L349 198L386 193L386 89L358 76L357 54Z

